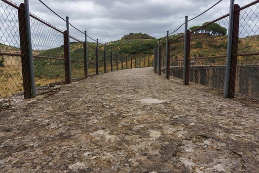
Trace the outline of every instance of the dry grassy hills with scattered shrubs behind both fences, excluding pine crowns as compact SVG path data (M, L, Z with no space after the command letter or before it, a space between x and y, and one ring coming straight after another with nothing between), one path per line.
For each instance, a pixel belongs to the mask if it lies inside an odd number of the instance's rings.
M183 33L170 36L169 40L172 41ZM120 40L107 43L108 62L110 60L110 49L113 49L113 60L115 60L115 50L119 53L127 53L144 57L153 56L153 46L157 43L157 39L145 34L129 34L123 36ZM161 41L165 44L165 40ZM95 73L95 43L88 43L88 57L89 61L89 74ZM103 45L100 46L99 62L100 70L103 71ZM190 57L204 57L226 54L227 37L226 36L213 36L210 34L196 33L191 36L191 52ZM8 46L0 43L0 51L19 53L20 49L13 46ZM252 36L239 39L239 52L258 52L259 51L259 36ZM48 50L33 50L34 55L50 56L50 57L64 57L64 45L55 47ZM162 56L165 56L165 47L162 48ZM184 56L184 39L171 43L170 57L174 59L182 59ZM83 44L71 43L71 57L75 60L83 60ZM2 60L4 60L2 62ZM92 62L91 62L92 61ZM206 59L203 63L214 62L213 59ZM216 62L216 61L215 61ZM217 63L225 64L225 58L220 58ZM22 87L22 74L21 74L21 59L13 56L0 56L0 87L5 88L0 92L1 96L6 96L11 93L16 93L23 89ZM133 62L134 66L135 61ZM259 56L246 56L238 57L238 63L259 63ZM113 64L115 65L115 64ZM119 64L120 65L120 64ZM108 69L110 66L108 65ZM36 77L36 85L44 86L64 80L64 61L63 60L50 60L36 58L34 60L34 72ZM83 74L83 63L72 61L72 77L80 78ZM8 88L13 88L12 91ZM8 92L7 92L8 91Z

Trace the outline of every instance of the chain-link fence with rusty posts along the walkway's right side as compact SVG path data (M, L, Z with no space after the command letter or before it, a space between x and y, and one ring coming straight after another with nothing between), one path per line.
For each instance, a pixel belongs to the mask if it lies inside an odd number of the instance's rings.
M225 97L259 99L259 0L231 7L233 17L226 14L192 26L182 36L167 37L169 73L185 85L224 91ZM155 64L158 73L167 56L166 43L161 41L161 53L158 45L154 51L156 61L162 62Z

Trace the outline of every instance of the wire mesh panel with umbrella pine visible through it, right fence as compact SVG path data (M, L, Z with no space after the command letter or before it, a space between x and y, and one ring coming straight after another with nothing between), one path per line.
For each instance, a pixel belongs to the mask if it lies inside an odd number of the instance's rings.
M223 90L228 15L191 27L189 81Z

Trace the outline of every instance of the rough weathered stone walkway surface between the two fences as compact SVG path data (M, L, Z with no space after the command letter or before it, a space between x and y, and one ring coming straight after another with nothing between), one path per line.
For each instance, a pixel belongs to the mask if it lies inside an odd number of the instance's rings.
M151 68L88 78L0 113L0 172L258 170L258 108Z

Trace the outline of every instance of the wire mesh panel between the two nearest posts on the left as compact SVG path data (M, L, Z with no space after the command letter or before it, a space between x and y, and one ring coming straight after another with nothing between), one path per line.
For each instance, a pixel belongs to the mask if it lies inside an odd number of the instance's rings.
M36 87L64 82L63 32L35 15L30 21Z

